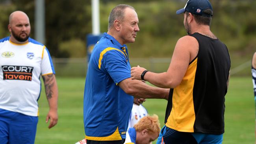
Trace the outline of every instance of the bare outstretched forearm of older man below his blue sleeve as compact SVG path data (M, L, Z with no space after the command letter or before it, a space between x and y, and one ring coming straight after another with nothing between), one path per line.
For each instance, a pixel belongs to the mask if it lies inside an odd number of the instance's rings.
M134 98L157 98L168 100L169 97L170 89L152 87L136 79L124 79L119 82L118 85L124 92L134 96Z

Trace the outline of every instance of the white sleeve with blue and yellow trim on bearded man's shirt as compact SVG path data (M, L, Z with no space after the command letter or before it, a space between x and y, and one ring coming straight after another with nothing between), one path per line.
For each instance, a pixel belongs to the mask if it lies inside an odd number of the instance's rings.
M42 62L41 62L41 75L45 76L48 74L55 74L54 66L52 63L52 58L49 51L44 46L42 53Z

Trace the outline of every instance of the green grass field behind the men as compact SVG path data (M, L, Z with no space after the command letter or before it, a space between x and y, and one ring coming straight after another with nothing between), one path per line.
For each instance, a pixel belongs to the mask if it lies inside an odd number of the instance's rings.
M74 144L84 138L83 90L85 78L57 78L57 83L59 88L58 124L52 129L48 129L48 124L45 123L48 103L45 91L42 89L35 144ZM231 77L225 104L223 144L253 144L255 140L255 110L250 77ZM149 114L158 114L161 126L163 126L167 101L148 99L143 105L148 109Z

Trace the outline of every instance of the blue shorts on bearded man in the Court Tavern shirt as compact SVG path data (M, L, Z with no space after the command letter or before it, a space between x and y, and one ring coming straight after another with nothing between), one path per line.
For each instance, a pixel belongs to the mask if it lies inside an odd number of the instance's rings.
M34 144L37 116L0 109L0 144Z

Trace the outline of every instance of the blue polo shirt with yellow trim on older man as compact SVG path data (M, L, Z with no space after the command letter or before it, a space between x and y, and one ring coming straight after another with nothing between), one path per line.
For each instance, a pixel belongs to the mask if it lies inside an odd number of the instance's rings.
M121 140L126 137L133 96L117 84L130 78L126 45L104 33L91 54L83 99L85 138Z

